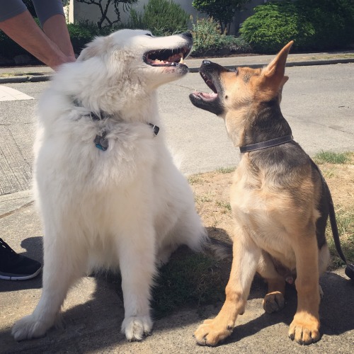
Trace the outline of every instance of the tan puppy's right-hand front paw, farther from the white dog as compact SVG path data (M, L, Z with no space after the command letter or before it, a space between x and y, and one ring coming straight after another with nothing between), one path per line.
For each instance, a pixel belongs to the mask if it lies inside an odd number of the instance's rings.
M290 324L289 337L299 344L311 344L319 341L319 319L307 312L295 314Z

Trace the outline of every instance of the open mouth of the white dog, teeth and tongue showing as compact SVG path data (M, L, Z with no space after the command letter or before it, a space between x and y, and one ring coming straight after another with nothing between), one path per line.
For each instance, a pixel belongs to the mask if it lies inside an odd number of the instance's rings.
M191 47L176 48L173 50L152 50L144 54L144 62L152 67L177 67L183 64Z

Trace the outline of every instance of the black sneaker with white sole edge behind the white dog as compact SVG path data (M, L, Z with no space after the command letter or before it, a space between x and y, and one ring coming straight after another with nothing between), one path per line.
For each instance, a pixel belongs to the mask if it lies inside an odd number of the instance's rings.
M38 261L17 254L0 239L0 279L26 280L37 276L41 269Z

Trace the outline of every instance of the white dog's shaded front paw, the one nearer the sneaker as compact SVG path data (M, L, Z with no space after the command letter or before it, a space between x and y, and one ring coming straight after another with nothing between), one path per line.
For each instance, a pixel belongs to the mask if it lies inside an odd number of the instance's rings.
M33 315L30 315L17 321L15 326L13 326L11 334L16 341L23 341L24 339L44 336L49 327L50 324L38 321Z

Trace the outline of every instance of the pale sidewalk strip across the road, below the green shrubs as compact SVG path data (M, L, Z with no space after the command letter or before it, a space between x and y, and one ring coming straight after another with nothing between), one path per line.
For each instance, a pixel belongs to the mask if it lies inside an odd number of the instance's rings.
M263 67L268 64L274 55L243 55L235 57L211 58L213 62L227 67L229 69L237 66L244 67ZM202 59L187 59L190 72L198 72ZM345 64L354 62L353 51L343 52L321 52L306 54L290 54L287 57L287 67L308 66L308 65L328 65ZM0 84L14 82L38 82L47 81L53 74L50 67L0 67Z

